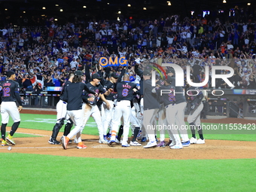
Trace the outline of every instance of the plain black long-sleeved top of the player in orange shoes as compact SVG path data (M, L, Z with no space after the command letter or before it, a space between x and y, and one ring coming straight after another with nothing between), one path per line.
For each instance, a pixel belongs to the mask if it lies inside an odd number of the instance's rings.
M96 93L95 91L90 90L87 85L82 82L66 85L63 93L63 100L68 102L68 111L79 110L82 108L82 96L84 91L87 93Z

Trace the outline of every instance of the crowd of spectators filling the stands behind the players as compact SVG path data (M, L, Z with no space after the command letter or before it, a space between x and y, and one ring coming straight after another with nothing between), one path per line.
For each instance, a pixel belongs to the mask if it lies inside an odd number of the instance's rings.
M26 90L60 87L69 72L77 69L90 81L101 56L125 56L131 80L135 79L135 65L174 62L184 68L184 74L186 66L191 66L190 73L198 82L205 78L205 66L231 66L235 88L256 88L256 22L251 19L223 23L217 17L173 15L160 20L76 21L64 26L47 20L45 26L9 23L1 31L1 80L6 71L14 71ZM121 69L107 67L105 77ZM229 88L224 81L218 81L216 87Z

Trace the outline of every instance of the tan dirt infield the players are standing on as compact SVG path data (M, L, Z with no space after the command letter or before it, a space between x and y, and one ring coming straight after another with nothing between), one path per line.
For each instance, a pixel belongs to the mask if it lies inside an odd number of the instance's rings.
M23 110L30 114L56 114L55 111ZM202 120L205 123L255 123L255 120L225 118L221 120ZM8 127L9 131L11 128ZM67 150L62 145L50 145L48 139L51 131L31 130L19 128L17 133L35 134L41 137L15 138L17 145L0 148L0 153L24 153L24 154L50 154L68 157L105 157L105 158L136 158L136 159L239 159L256 158L254 153L256 142L236 142L222 140L207 140L205 145L190 145L181 150L166 148L122 148L120 145L109 147L99 144L98 136L82 135L87 149L77 149L76 144L69 145ZM60 134L59 134L60 135ZM58 140L60 137L57 138ZM167 140L166 140L167 142ZM143 144L145 145L145 144Z

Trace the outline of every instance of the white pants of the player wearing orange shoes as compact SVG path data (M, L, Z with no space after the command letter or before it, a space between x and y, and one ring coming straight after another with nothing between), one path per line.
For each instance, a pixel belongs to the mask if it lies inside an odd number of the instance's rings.
M74 122L74 129L69 133L69 135L67 137L69 137L69 139L71 139L73 136L76 135L76 139L78 142L82 142L81 140L81 133L82 130L84 129L83 123L83 111L82 109L79 110L73 110L73 111L67 111L67 113L69 114L69 117L72 119L72 121Z

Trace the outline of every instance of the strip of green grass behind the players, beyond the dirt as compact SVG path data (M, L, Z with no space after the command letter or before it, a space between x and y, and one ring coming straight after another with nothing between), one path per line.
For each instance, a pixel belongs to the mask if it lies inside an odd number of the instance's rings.
M28 129L36 129L36 130L53 130L53 126L56 123L56 115L53 114L20 114L21 117L21 123L20 127L22 128L28 128ZM1 118L0 118L1 119ZM11 126L13 123L12 120L10 120L10 123L8 123L8 126ZM216 125L218 126L218 123L203 123L205 125ZM226 126L223 126L226 129ZM60 130L60 132L63 132L64 126ZM187 131L189 136L190 130ZM88 120L87 126L84 127L84 134L98 136L98 129L96 126L95 121L92 117ZM157 132L157 136L159 137L159 132ZM251 141L256 142L256 130L229 130L229 132L225 132L224 134L212 134L215 133L212 130L204 130L203 131L206 139L220 139L220 140L235 140L235 141ZM221 133L220 131L218 133ZM226 134L226 133L233 133L233 134ZM239 133L250 133L250 134L239 134ZM131 135L131 133L130 133ZM166 134L166 138L168 138L168 135Z

